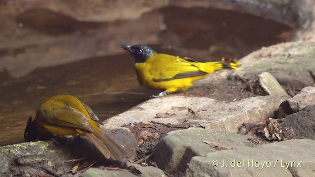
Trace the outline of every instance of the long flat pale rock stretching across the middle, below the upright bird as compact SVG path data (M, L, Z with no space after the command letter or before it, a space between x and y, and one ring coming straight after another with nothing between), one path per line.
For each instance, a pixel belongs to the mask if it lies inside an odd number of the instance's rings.
M155 121L183 127L201 126L236 133L244 122L272 117L274 111L286 99L287 97L269 95L225 103L207 97L170 95L150 99L125 113L109 118L104 121L104 127ZM155 118L159 113L168 114L168 117Z

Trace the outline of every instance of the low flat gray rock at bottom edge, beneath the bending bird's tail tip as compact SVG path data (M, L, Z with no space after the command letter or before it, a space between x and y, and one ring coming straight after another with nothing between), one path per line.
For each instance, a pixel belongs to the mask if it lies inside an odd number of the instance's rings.
M100 170L96 168L90 168L89 170L80 174L79 177L137 177L137 176L124 171Z

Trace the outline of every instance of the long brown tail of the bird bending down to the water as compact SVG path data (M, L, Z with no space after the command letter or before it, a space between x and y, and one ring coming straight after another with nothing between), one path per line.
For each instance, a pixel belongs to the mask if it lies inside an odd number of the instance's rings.
M117 145L114 140L104 133L95 130L94 132L87 133L86 136L107 159L118 160L130 157L121 146Z

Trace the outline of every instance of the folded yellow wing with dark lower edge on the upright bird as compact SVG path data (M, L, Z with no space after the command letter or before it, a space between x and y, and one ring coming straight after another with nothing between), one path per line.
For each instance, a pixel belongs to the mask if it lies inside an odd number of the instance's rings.
M195 60L179 58L165 54L153 56L154 63L150 67L150 75L156 82L194 77L207 74L193 64Z

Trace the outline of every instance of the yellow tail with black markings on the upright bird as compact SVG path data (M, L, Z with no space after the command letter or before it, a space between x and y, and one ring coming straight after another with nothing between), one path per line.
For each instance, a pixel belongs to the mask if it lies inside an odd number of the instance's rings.
M240 65L241 65L240 62L224 62L224 61L205 62L205 63L199 63L199 69L210 74L219 70L230 70L230 69L239 70L238 66Z

